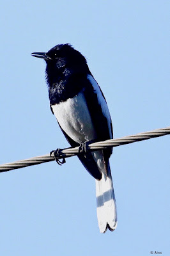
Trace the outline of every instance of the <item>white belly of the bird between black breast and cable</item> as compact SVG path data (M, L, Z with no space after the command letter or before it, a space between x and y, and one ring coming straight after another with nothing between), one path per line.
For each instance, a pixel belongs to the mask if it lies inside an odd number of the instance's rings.
M52 110L59 125L72 140L82 143L97 138L82 92L72 99L52 105Z

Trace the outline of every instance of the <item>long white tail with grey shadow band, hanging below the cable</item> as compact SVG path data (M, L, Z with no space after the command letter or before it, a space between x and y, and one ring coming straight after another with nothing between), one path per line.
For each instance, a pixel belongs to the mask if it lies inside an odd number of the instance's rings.
M117 226L116 200L112 186L112 176L110 164L107 166L107 176L102 173L102 179L96 180L97 195L97 218L98 227L101 233L105 233L107 228L113 231Z

